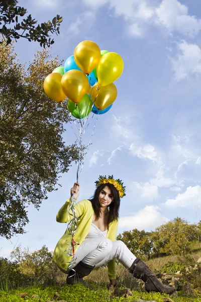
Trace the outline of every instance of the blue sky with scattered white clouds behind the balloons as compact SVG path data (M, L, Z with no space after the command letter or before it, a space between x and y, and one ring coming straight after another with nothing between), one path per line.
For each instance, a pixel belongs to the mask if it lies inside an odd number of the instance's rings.
M34 3L34 5L33 5ZM92 40L118 52L125 64L116 81L118 97L101 116L80 174L80 200L89 198L99 175L124 181L119 233L146 231L180 216L201 219L201 2L177 0L19 0L39 22L64 18L51 54L67 59L75 46ZM20 39L21 62L32 60L37 43ZM66 125L64 140L75 135ZM1 240L0 256L16 245L54 249L66 225L56 214L69 197L76 166L62 175L62 188L49 194L39 211L29 206L27 234Z

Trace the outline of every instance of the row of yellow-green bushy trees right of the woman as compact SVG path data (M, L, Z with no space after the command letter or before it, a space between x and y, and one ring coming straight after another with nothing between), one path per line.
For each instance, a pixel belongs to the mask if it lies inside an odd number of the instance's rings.
M176 217L159 226L154 232L134 229L117 236L135 255L149 260L166 255L186 255L192 241L199 239L201 223L188 224Z

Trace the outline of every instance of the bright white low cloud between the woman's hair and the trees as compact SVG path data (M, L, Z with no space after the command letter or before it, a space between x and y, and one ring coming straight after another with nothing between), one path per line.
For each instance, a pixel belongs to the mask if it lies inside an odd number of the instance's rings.
M151 231L167 221L168 219L161 215L157 206L147 205L133 215L121 217L119 228L124 231L133 229Z

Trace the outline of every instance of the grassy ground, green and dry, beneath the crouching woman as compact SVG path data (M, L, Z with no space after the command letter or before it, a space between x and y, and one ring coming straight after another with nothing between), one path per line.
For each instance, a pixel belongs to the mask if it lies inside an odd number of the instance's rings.
M200 244L200 243L199 243ZM201 257L200 246L193 243L190 257L196 262ZM154 271L160 271L161 268L168 263L181 261L180 256L168 256L156 258L147 262L148 266ZM185 260L184 260L185 261ZM88 289L83 285L66 285L66 275L61 274L57 279L59 285L55 286L40 286L32 285L24 288L15 288L14 284L4 284L1 289L0 284L0 302L46 302L64 300L67 302L102 302L102 301L130 301L134 302L138 299L146 301L155 300L156 302L164 302L164 298L168 295L160 293L146 293L144 283L135 278L122 265L117 265L117 276L120 288L128 288L131 292L130 296L115 297L114 290L108 289L108 274L107 268L93 270L86 277L86 282L92 284L94 289ZM201 276L199 277L201 281ZM200 302L201 301L201 282L197 283L200 288L190 288L190 291L180 291L177 296L170 296L175 302ZM199 285L200 284L200 285ZM10 285L10 286L9 286ZM21 297L20 293L27 293L25 298Z

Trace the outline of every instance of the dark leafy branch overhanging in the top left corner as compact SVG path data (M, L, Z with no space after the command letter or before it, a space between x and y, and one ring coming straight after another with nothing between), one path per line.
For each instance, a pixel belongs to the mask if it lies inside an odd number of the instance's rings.
M7 44L10 44L14 38L25 38L31 41L37 41L41 46L50 46L54 43L54 39L50 38L50 33L59 34L59 26L63 21L62 17L57 15L52 22L41 23L37 25L32 16L26 16L25 19L19 21L19 17L27 14L27 10L17 6L17 0L0 0L0 34L2 34ZM11 26L14 24L14 26ZM9 25L9 26L8 26ZM2 42L0 42L2 43Z

